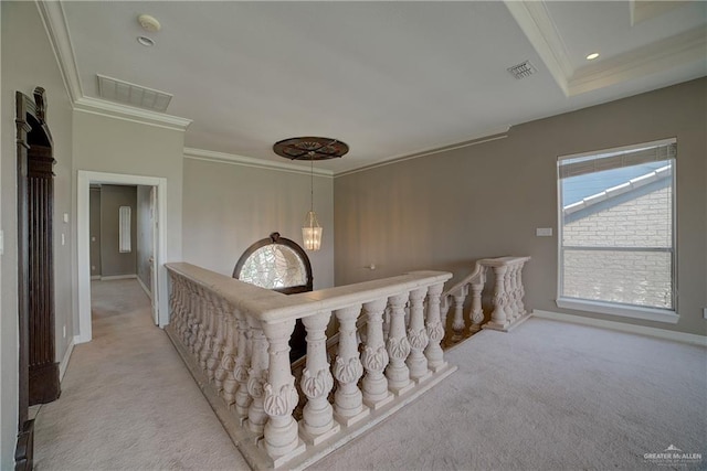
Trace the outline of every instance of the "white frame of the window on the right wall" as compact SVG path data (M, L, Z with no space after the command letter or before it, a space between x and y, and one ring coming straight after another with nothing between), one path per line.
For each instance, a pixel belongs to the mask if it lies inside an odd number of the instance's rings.
M654 307L645 307L637 304L627 304L613 301L601 301L581 298L570 298L562 296L563 281L564 281L564 267L563 267L563 216L562 216L562 179L560 176L560 162L567 159L577 159L582 157L601 156L604 153L614 153L631 151L642 148L659 147L667 144L676 144L676 138L661 139L651 142L641 142L631 146L623 146L609 149L600 149L589 152L573 153L567 156L560 156L556 162L556 179L557 179L557 221L558 221L558 240L557 240L557 298L556 303L559 308L572 309L578 311L595 312L609 315L620 315L624 318L643 319L656 322L677 323L679 320L677 303L678 303L678 279L677 279L677 156L668 158L671 161L672 174L671 174L671 211L672 211L672 232L671 232L671 245L672 250L664 250L672 254L671 260L671 281L672 281L672 309L661 309ZM598 247L592 246L590 249ZM626 247L621 247L626 248ZM611 250L612 247L605 247ZM650 250L646 250L650 251Z

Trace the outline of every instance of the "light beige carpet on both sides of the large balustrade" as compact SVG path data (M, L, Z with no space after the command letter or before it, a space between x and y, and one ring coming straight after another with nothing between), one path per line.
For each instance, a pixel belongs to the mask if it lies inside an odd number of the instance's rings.
M36 469L247 469L131 282L94 286L95 340L40 410ZM666 469L644 454L671 445L707 458L704 347L530 319L446 356L447 381L310 469Z

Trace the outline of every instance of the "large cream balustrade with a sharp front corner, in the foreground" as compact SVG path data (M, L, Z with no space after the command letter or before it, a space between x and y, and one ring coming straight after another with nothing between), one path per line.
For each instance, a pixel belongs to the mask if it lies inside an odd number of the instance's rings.
M166 331L254 469L308 465L456 370L440 345L451 274L415 271L285 296L189 264L167 269ZM307 355L294 371L288 341L297 319ZM338 343L329 362L334 319ZM300 420L298 390L306 397Z

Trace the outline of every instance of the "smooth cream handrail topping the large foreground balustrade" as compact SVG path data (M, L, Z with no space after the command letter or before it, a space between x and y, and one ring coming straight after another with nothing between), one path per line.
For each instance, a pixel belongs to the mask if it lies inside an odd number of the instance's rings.
M452 278L452 274L447 271L412 271L379 280L285 296L187 263L165 266L265 323L363 304L401 291L443 283Z

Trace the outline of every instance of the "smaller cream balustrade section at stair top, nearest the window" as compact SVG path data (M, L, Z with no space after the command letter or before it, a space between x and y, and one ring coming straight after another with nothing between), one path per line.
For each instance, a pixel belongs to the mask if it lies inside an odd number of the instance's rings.
M453 315L450 343L456 343L482 328L507 332L528 319L529 313L523 303L523 267L528 260L530 257L483 258L476 261L471 275L442 293L444 319L450 313ZM484 323L482 295L488 269L494 271L493 311L488 322ZM466 330L464 307L469 293L469 328Z

